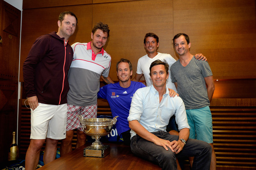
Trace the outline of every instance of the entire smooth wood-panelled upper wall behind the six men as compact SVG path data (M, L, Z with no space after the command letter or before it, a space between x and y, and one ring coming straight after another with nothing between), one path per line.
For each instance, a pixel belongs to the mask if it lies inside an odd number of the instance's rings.
M147 32L160 37L159 52L176 59L172 38L179 32L188 34L192 54L207 56L215 79L256 78L255 0L23 0L21 36L26 43L21 44L21 65L38 36L57 31L58 14L65 10L75 12L79 19L70 43L90 41L96 22L110 26L105 50L112 57L110 75L115 81L114 66L120 58L130 59L135 73L137 60L145 55Z

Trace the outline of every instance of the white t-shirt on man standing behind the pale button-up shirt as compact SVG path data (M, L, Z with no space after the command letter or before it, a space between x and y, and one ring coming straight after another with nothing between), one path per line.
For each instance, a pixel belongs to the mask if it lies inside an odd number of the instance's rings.
M171 73L170 73L170 67L172 66L173 63L176 62L176 60L169 54L164 54L164 53L160 53L158 52L157 55L154 58L149 58L148 55L144 55L143 57L141 57L138 60L137 63L137 74L143 74L145 77L145 81L147 86L151 86L152 85L152 81L150 79L150 75L149 75L149 67L151 65L151 63L153 61L156 61L157 59L163 61L165 60L168 64L169 64L169 78L166 81L166 86L170 89L175 90L175 92L177 92L177 89L175 87L175 84L172 83L172 79L171 79Z

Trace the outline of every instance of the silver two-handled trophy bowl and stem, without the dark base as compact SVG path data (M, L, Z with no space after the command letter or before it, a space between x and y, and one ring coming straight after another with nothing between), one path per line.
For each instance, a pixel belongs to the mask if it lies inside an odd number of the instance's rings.
M102 136L108 135L111 130L112 126L116 124L116 118L118 116L114 117L113 119L110 118L83 118L81 115L79 115L79 120L82 125L82 129L86 135L93 136L95 138L95 141L92 145L90 145L90 148L94 149L100 149L103 148L104 145L102 142L99 141L99 138Z

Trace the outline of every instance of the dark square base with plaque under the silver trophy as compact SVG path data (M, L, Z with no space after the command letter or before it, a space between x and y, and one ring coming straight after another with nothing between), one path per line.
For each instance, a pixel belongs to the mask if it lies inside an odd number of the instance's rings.
M85 157L104 158L109 153L110 153L109 145L104 145L101 148L95 148L95 147L91 147L91 146L84 148L84 156Z

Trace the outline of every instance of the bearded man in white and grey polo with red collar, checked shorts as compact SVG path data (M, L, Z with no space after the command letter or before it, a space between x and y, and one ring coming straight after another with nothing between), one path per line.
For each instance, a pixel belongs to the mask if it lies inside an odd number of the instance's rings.
M85 144L86 135L81 129L78 115L96 118L100 77L108 84L114 83L108 77L111 56L103 49L109 31L107 24L99 22L92 30L91 42L74 43L71 46L74 56L68 74L70 90L67 94L67 137L61 142L61 156L72 151L74 129L78 129L76 147Z

